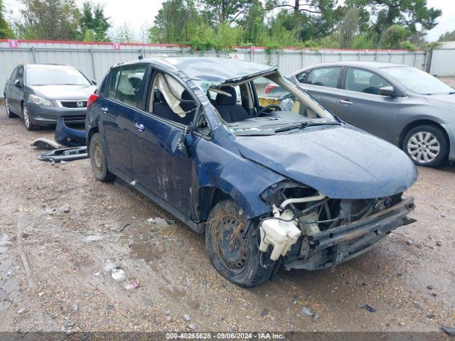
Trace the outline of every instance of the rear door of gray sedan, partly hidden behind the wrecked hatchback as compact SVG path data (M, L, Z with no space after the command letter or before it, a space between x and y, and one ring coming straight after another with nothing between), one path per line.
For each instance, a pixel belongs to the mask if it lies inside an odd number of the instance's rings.
M336 99L341 80L341 66L316 67L296 75L296 82L318 102L336 113Z

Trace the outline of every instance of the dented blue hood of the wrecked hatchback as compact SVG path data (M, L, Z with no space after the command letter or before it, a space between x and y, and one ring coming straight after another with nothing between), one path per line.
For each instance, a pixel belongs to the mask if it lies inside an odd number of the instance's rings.
M417 168L399 148L349 126L236 141L245 158L333 199L386 197L417 180Z

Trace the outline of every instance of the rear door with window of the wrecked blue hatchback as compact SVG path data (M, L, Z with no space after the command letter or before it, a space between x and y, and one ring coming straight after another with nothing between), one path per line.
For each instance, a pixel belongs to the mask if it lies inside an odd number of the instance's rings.
M136 139L134 123L146 68L146 65L127 65L112 69L108 96L102 97L100 103L100 126L105 135L109 166L129 179L132 178L132 141Z

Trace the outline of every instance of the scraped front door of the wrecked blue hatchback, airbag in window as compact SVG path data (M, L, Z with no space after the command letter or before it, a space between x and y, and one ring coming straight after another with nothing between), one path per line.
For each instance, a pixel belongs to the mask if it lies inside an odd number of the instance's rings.
M158 73L156 73L158 75ZM166 76L170 77L170 76ZM184 95L184 87L178 81L168 78L168 82L152 80L151 101L144 112L137 113L137 139L132 148L133 178L184 215L191 215L191 186L193 182L193 144L195 137L183 136L186 124L191 122L194 110L185 104L171 107ZM168 91L166 87L172 86ZM156 95L156 91L160 95ZM163 93L166 92L166 96ZM186 92L188 94L188 92ZM178 98L173 97L176 94ZM167 98L167 99L166 99ZM184 119L176 114L183 108L188 111ZM188 110L186 110L188 109ZM179 148L178 141L186 139L187 144Z

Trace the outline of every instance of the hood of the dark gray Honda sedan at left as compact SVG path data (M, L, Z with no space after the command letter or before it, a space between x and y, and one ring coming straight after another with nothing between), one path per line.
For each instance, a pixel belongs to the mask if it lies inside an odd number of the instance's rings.
M95 85L32 85L30 88L47 99L88 99L97 87Z

